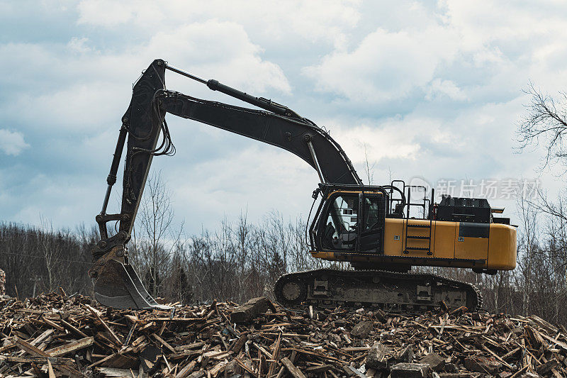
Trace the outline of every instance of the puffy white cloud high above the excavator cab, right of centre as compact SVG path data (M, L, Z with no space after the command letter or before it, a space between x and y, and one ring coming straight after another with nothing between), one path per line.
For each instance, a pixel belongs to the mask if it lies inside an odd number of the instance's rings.
M439 65L453 59L458 44L458 36L440 26L398 32L378 28L354 50L332 52L304 72L319 90L376 103L425 86Z

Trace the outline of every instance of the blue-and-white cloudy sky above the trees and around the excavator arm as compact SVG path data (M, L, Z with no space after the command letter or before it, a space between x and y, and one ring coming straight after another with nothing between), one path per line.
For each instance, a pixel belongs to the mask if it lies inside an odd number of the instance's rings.
M567 89L565 2L240 3L0 1L0 219L94 223L132 84L158 57L325 126L361 176L365 151L376 162L374 184L537 177L539 152L513 139L529 80ZM167 84L235 104L171 72ZM241 211L306 216L318 177L298 157L168 121L177 154L152 168L189 232Z

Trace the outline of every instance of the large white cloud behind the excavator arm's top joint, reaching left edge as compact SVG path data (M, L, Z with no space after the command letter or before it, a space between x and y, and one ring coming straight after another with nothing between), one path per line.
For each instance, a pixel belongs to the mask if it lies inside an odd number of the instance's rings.
M0 55L21 62L11 68L11 75L0 78L0 85L18 84L10 101L0 104L0 110L19 113L27 121L26 127L34 131L45 129L48 123L60 130L82 130L92 135L100 132L101 125L108 128L118 123L128 107L131 84L158 57L254 94L274 90L291 94L281 67L263 59L262 48L233 22L191 23L159 32L119 52L96 50L89 38L72 37L60 49L28 43L0 45ZM219 96L189 79L167 73L168 88L183 91L188 85L189 94L203 94L209 99ZM223 101L227 96L223 95ZM38 119L43 123L35 122Z

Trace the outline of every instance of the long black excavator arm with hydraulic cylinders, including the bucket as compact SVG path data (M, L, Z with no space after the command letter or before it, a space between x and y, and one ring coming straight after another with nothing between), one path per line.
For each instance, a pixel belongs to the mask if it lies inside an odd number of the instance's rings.
M212 90L221 91L264 110L196 99L167 90L166 70L182 74L206 84ZM147 293L135 270L128 263L125 245L130 240L152 158L174 153L174 145L165 120L167 113L288 150L315 168L322 183L362 184L338 143L307 118L269 99L250 96L216 80L206 81L169 66L164 60L155 60L134 85L130 106L122 118L102 210L96 216L101 240L92 250L96 262L89 270L89 275L94 279L96 299L106 306L160 307ZM108 214L108 199L113 184L116 183L125 145L121 211ZM111 221L119 224L118 232L114 235L108 233L107 223Z

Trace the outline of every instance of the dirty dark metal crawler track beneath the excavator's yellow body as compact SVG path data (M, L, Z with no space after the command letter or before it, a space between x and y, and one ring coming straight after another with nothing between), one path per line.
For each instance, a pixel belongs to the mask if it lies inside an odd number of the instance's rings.
M283 274L274 284L277 301L288 308L369 307L417 313L438 307L482 305L480 291L471 284L437 274L383 270L315 269Z

